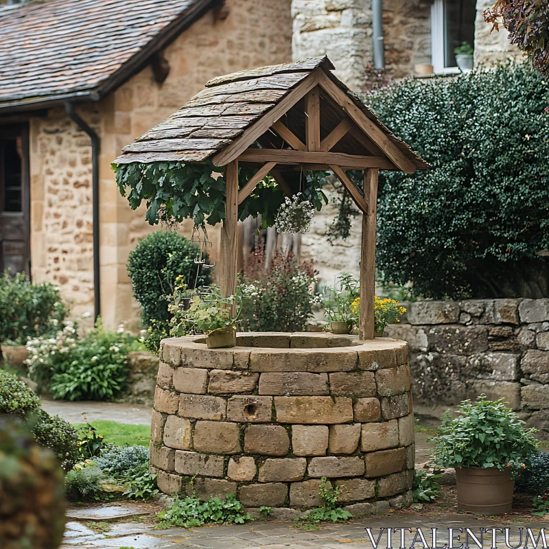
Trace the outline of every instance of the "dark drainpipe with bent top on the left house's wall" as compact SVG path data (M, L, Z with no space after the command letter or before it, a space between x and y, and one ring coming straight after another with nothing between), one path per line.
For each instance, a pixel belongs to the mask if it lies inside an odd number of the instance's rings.
M93 316L101 314L101 286L99 266L99 153L100 137L80 116L75 113L74 106L65 102L65 111L69 118L86 132L91 139L91 203L93 215Z

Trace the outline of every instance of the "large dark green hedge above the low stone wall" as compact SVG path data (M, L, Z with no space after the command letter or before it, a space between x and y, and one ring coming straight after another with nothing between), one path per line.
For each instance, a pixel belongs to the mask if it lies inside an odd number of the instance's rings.
M384 281L436 299L549 295L548 95L537 71L504 65L365 97L431 166L379 174Z

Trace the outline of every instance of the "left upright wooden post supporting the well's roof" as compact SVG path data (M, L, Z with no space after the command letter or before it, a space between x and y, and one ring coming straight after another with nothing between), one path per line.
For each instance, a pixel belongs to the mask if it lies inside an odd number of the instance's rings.
M222 296L236 292L238 230L238 161L229 162L225 171L225 219L221 229L220 291Z

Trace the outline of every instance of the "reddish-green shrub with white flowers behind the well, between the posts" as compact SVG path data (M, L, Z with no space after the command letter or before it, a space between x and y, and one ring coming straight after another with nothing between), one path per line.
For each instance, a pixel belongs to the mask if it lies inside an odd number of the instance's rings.
M303 331L312 317L318 297L312 291L316 272L312 262L298 263L275 253L272 266L265 270L264 250L255 250L241 283L255 299L242 301L241 326L245 331Z

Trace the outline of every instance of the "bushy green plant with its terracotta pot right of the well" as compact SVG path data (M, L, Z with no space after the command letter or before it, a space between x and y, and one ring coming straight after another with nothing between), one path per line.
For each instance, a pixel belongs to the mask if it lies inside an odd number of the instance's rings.
M504 399L475 403L464 400L452 417L447 412L436 430L433 460L456 468L458 510L482 515L509 513L513 474L528 466L539 441L535 429L524 428Z

